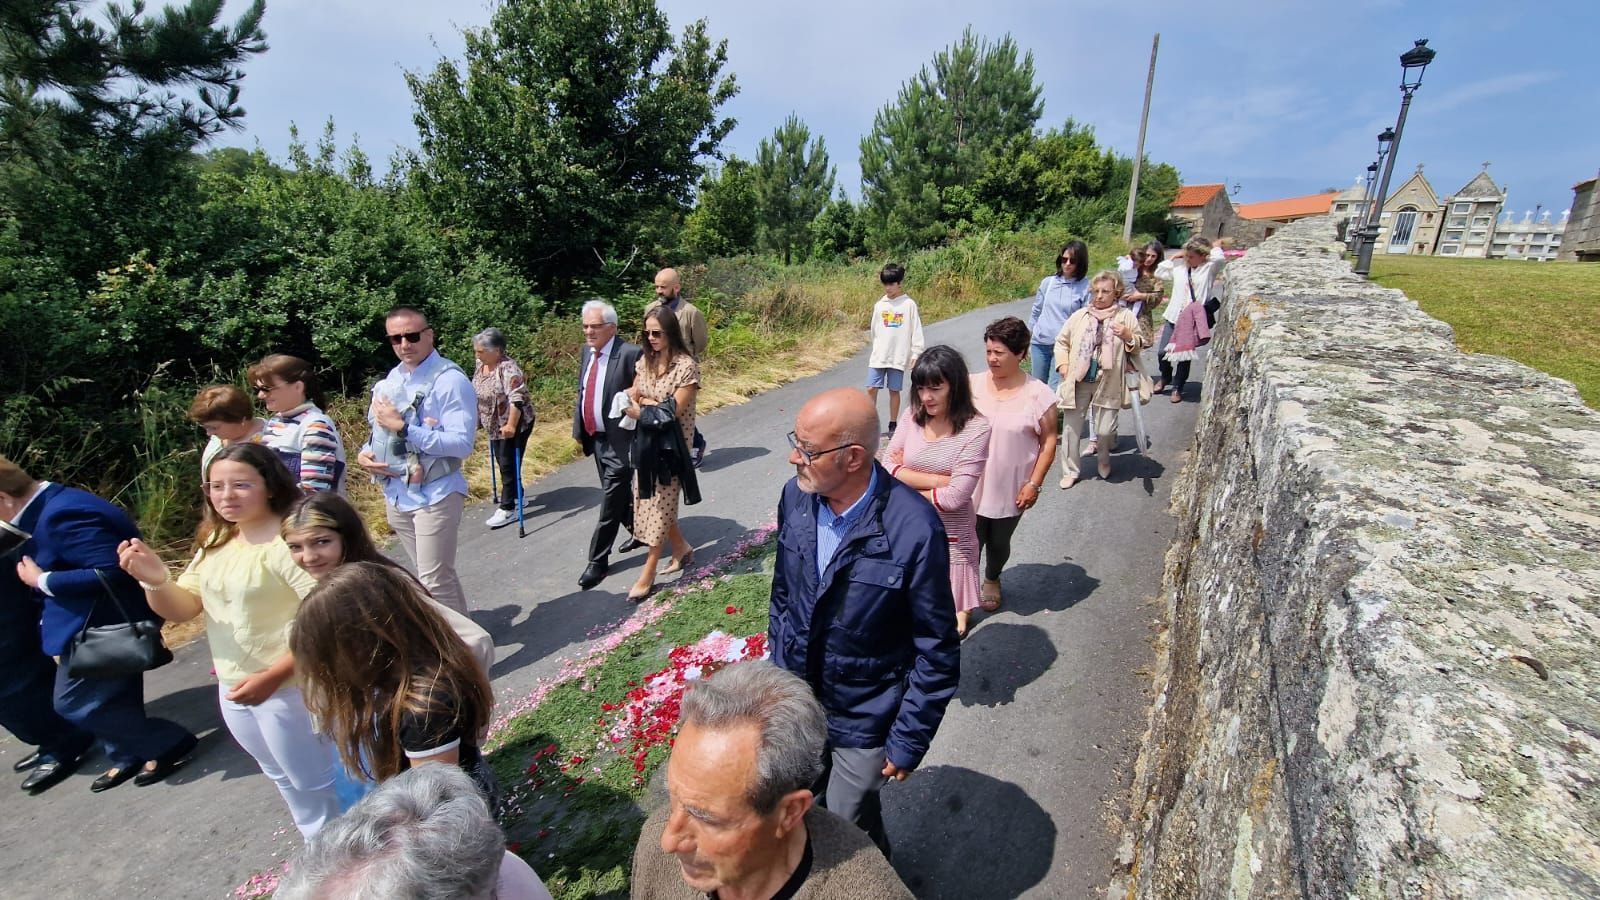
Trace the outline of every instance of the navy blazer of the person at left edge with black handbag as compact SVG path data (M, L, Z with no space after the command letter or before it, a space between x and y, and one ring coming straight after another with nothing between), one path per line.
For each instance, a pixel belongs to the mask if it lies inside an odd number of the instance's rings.
M38 636L45 653L61 655L85 621L160 621L144 601L139 583L117 565L117 544L139 536L126 512L86 490L53 484L14 524L34 535L22 552L50 573L54 596L35 591L43 604ZM128 617L106 596L96 569L117 591Z

